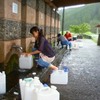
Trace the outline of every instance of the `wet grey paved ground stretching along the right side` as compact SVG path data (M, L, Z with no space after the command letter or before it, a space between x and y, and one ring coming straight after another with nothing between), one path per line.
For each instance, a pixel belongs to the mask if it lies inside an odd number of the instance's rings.
M62 61L69 68L69 83L57 85L61 100L100 100L100 47L91 40L83 45Z

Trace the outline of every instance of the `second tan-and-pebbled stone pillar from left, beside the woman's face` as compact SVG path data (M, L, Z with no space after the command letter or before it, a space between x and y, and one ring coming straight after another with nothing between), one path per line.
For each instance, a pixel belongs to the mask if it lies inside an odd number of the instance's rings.
M30 45L34 42L34 38L30 34L30 28L36 24L36 1L22 0L21 45L24 51L29 51Z

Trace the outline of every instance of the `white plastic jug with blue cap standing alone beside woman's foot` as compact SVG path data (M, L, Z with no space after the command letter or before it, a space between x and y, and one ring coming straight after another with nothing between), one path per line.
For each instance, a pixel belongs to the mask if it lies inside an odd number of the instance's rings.
M68 71L56 70L50 75L51 84L67 84L68 83Z

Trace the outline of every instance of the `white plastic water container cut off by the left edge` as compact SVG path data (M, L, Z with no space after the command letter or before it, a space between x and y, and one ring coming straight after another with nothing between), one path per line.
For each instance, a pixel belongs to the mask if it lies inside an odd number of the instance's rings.
M6 93L6 74L0 72L0 94Z

